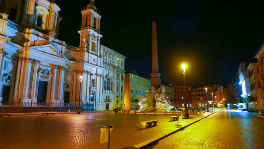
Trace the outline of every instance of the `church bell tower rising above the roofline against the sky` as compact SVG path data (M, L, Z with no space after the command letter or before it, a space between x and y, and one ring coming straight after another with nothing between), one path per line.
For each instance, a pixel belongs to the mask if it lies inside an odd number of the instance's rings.
M80 34L80 47L85 48L86 52L99 56L100 39L100 19L98 9L95 6L95 0L90 0L90 3L82 10L82 25Z

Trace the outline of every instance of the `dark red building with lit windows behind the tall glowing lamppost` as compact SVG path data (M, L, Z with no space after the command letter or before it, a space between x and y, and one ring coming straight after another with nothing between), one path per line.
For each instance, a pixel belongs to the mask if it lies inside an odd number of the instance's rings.
M186 91L186 99L188 107L192 107L192 86L186 85L186 89L184 89L184 85L174 85L174 105L176 107L186 107L185 103L185 93ZM173 103L173 102L172 102Z

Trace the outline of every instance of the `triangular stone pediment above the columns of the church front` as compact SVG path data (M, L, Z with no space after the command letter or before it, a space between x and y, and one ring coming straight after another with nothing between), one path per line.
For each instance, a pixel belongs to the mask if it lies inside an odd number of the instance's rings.
M48 45L41 45L41 46L34 46L31 49L38 50L47 54L51 54L56 57L67 59L58 49L56 49L52 44Z

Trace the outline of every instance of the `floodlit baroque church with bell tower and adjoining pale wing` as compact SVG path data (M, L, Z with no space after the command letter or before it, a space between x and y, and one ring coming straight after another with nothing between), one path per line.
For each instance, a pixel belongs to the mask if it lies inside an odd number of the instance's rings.
M79 47L57 39L59 11L54 0L0 0L0 104L123 108L126 57L101 45L94 0L81 11Z

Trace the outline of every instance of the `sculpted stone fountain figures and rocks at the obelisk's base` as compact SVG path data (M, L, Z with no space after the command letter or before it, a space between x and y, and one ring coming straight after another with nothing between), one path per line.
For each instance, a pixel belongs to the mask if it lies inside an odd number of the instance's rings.
M164 96L164 91L165 86L163 85L161 85L161 87L158 89L152 86L147 92L147 94L143 97L138 112L170 112L174 110L176 111L176 108L170 104L168 97Z

